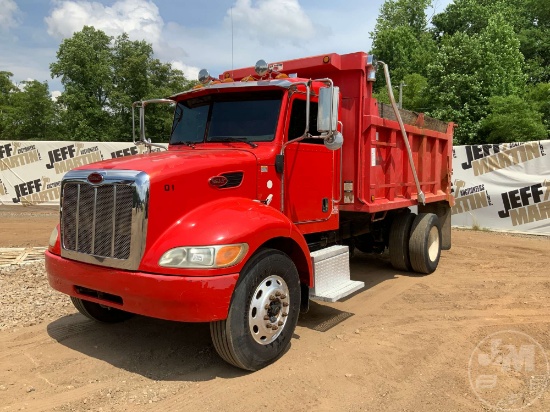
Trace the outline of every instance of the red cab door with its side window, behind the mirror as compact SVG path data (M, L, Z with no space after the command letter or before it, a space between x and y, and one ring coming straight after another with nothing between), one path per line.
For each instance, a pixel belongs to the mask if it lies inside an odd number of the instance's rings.
M299 96L300 97L300 96ZM292 101L287 141L305 129L305 100ZM317 135L317 104L311 102L310 133ZM338 227L340 150L325 147L323 139L289 144L284 152L285 214L305 233Z

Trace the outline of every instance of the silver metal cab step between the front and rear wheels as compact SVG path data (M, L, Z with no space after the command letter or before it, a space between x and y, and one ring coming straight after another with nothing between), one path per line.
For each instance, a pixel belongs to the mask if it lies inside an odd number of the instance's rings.
M331 246L310 255L315 279L310 299L336 302L365 286L363 282L350 280L347 246Z

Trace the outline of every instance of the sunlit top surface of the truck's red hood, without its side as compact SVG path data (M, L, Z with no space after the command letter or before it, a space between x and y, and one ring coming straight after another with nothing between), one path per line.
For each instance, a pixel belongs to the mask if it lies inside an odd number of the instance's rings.
M192 174L196 171L209 170L210 173L231 172L249 169L256 166L256 156L246 150L208 149L182 150L147 153L105 160L98 163L81 166L78 170L116 169L140 170L149 175L151 180L162 180L173 176Z

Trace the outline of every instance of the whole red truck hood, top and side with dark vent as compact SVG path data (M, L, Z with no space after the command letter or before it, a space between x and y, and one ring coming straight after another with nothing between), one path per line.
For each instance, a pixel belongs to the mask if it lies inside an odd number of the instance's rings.
M240 149L189 149L127 156L92 163L79 170L135 170L149 175L147 247L200 206L223 198L257 197L257 159ZM226 187L210 184L223 175ZM147 252L146 252L147 253Z

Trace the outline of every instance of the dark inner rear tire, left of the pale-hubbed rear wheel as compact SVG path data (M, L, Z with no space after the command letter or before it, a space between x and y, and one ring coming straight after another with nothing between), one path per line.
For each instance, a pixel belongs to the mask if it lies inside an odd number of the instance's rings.
M412 269L409 257L409 238L416 213L400 213L393 219L390 229L389 252L390 262L397 270Z

